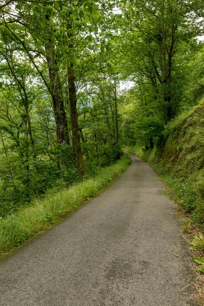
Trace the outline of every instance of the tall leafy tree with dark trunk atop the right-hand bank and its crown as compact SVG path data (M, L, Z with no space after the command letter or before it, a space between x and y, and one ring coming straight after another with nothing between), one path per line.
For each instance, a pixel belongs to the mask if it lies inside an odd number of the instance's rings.
M181 52L180 46L189 44L201 31L195 22L198 15L192 13L194 7L197 11L197 2L188 0L124 2L122 5L125 28L129 29L126 35L122 32L126 36L122 47L129 55L129 63L137 70L135 79L140 84L149 82L157 88L158 96L162 94L165 122L179 109L179 104L175 106L172 102L172 73L176 67L173 59Z

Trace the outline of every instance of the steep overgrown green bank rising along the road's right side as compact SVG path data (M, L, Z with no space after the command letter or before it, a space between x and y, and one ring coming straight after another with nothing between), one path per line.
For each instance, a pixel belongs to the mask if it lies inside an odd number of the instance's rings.
M127 148L162 175L173 191L175 202L201 227L204 225L203 115L201 103L169 122L164 139L154 149L145 150L139 145Z

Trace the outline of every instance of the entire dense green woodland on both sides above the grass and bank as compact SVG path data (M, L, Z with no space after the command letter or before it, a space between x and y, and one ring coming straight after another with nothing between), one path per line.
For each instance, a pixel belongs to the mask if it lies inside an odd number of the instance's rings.
M126 145L161 148L204 95L201 0L1 0L0 16L3 218Z

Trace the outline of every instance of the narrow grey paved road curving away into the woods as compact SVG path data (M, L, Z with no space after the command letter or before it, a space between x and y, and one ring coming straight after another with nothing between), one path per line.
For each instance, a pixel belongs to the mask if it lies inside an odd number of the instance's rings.
M191 305L173 206L155 171L131 157L113 185L0 264L0 305Z

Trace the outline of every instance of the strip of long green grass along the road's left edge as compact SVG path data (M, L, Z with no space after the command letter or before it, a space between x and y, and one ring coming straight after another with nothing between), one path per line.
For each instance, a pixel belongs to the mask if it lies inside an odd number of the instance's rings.
M102 168L92 179L74 184L56 195L47 195L41 201L35 200L31 207L1 218L0 254L8 252L12 247L20 245L77 210L84 201L96 196L116 179L130 162L130 157L123 155L116 164Z

